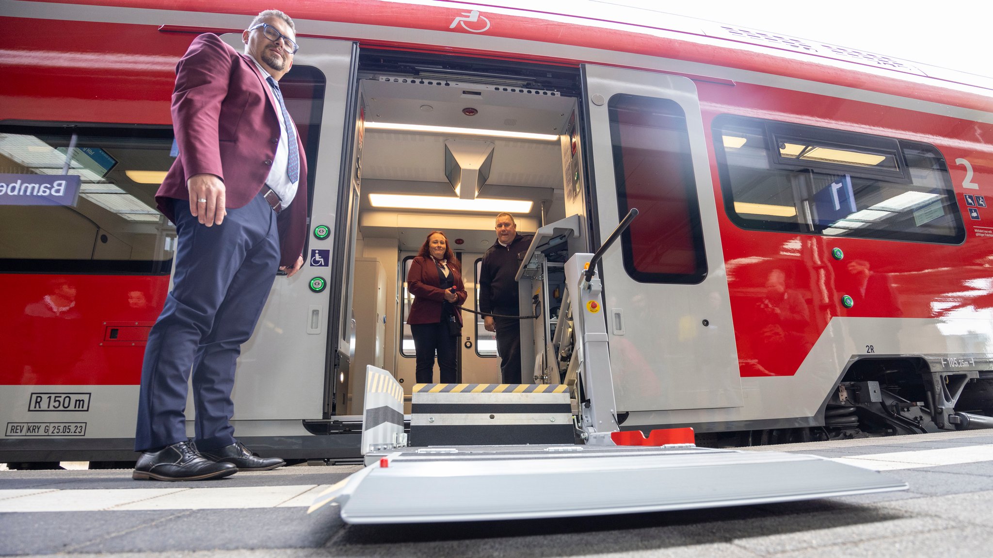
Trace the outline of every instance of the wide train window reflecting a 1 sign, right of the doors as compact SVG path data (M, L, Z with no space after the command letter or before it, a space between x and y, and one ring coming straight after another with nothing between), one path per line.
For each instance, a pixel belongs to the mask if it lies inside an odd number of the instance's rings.
M714 143L731 220L743 228L957 244L944 159L929 145L720 116Z

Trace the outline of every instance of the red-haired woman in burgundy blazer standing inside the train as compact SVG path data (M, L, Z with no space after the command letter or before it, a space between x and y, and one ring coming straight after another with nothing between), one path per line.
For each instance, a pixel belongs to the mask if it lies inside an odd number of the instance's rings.
M410 263L407 289L414 295L407 324L414 338L417 354L417 383L431 383L434 355L438 352L441 383L455 383L456 351L462 329L462 312L466 286L462 283L462 265L440 230L433 230Z

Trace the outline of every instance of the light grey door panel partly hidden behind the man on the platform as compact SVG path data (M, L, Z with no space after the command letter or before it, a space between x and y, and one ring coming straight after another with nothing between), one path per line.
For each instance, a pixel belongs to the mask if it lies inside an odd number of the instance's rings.
M240 34L223 39L236 50L243 48ZM294 67L280 83L308 148L313 177L305 262L294 277L277 277L255 333L242 349L233 392L239 437L309 437L302 421L327 414L327 348L335 335L328 317L338 302L328 286L333 261L347 245L336 243L334 233L349 217L339 185L349 178L341 169L354 125L357 47L320 39L300 39L299 44Z

